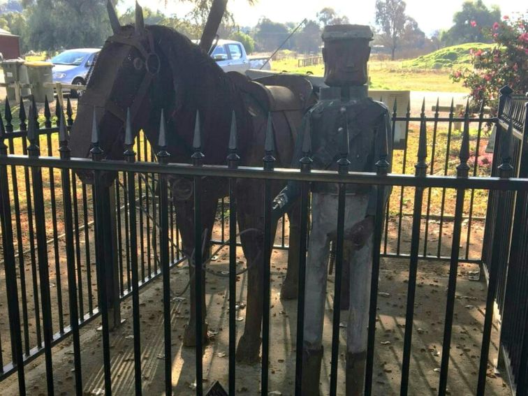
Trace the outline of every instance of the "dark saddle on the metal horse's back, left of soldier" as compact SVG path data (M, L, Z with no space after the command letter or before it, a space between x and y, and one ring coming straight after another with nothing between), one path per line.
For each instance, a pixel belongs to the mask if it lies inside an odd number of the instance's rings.
M255 143L263 145L270 114L277 166L289 167L302 117L316 103L311 82L300 75L270 75L257 80L237 72L228 75L242 92L256 131Z

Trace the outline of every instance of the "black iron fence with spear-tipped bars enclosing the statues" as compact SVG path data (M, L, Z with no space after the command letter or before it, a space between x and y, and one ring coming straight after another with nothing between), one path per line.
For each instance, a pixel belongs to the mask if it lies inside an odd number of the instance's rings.
M504 94L504 92L503 92ZM58 107L58 106L57 106ZM396 105L395 105L396 107ZM437 106L438 108L438 106ZM47 109L47 110L46 110ZM485 196L485 191L490 192L490 202L507 203L495 205L487 210L487 226L485 233L485 247L487 251L489 284L487 290L487 304L485 309L485 323L483 325L483 338L481 342L480 365L478 365L478 385L476 393L484 394L485 379L487 374L487 360L490 349L492 332L493 305L495 298L500 295L497 291L504 287L503 280L508 282L509 293L512 289L515 294L503 293L506 301L511 300L517 304L504 305L502 312L503 326L505 328L502 342L508 352L515 383L518 390L526 384L522 383L522 374L526 372L528 360L528 340L525 339L526 331L526 304L522 297L528 290L526 271L526 194L528 191L527 179L515 179L517 170L525 169L526 161L520 153L522 143L518 143L518 122L521 113L517 114L517 105L506 108L501 112L499 119L487 119L483 112L477 118L469 117L466 110L462 117L455 117L453 105L450 115L446 118L434 114L432 119L425 117L425 108L419 117L411 117L408 106L407 117L394 121L404 121L406 128L406 149L395 156L395 173L385 175L383 162L380 161L378 173L319 173L304 168L304 172L295 170L264 170L263 168L236 168L231 164L227 166L186 166L165 164L166 156L163 147L156 150L144 138L135 140L134 154L132 142L126 147L127 161L100 161L97 150L92 152L93 158L69 159L66 124L72 123L72 110L68 105L67 120L62 122L62 131L57 136L59 128L52 127L49 106L45 108L44 128L38 129L34 122L36 114L31 112L29 120L25 115L24 106L20 107L20 131L13 131L13 116L10 108L6 109L5 133L0 129L0 196L1 196L1 234L2 257L5 268L5 292L1 293L6 298L8 307L8 328L0 328L0 343L10 345L10 349L0 352L0 380L17 372L20 385L20 394L25 394L24 365L42 353L45 355L48 392L53 393L53 366L52 348L66 337L72 336L75 365L75 389L82 394L82 368L80 365L82 353L80 346L80 328L94 318L102 318L103 362L106 395L112 391L110 329L119 325L119 303L132 295L133 308L133 338L134 338L134 371L135 390L140 393L142 389L141 377L141 345L140 334L140 305L138 293L142 286L163 276L163 314L164 314L164 345L166 367L166 390L170 392L170 369L172 356L170 345L170 267L179 265L184 257L179 251L179 231L176 226L175 214L168 191L167 177L192 177L194 182L200 183L200 177L223 177L230 180L234 178L251 179L297 179L301 182L333 182L341 186L344 191L346 183L377 184L379 186L394 186L393 194L388 208L377 208L377 219L382 219L381 212L387 210L388 221L383 224L376 222L376 240L374 249L374 267L372 275L372 290L370 299L369 341L367 354L367 390L370 394L375 383L373 381L374 353L376 351L376 307L378 307L378 279L381 256L409 257L408 291L406 295L406 319L404 328L404 349L401 366L401 393L409 392L409 365L411 362L411 348L413 337L413 321L415 316L415 295L417 286L418 262L423 258L441 258L450 262L449 282L446 300L446 315L444 316L443 350L439 379L439 394L446 394L448 383L448 364L450 356L450 339L453 329L453 306L455 303L457 266L463 261L479 262L480 257L472 258L469 245L471 244L471 229L477 221L483 221L483 215L477 216L477 202ZM511 110L507 110L511 109ZM515 111L513 111L515 110ZM59 114L59 113L58 113ZM59 114L60 115L60 114ZM513 117L515 115L515 117ZM508 117L510 117L508 119ZM462 122L462 131L453 130L454 122ZM501 128L497 131L495 153L500 153L501 159L494 156L496 174L492 177L482 175L490 166L479 161L481 158L481 145L484 140L483 127L487 122L497 123ZM508 129L504 129L506 122ZM525 121L522 124L526 128ZM27 128L27 124L31 128ZM415 124L416 123L416 124ZM432 128L430 128L432 123ZM446 126L441 130L441 123ZM476 129L471 129L471 124L476 124ZM445 135L445 151L440 135ZM29 140L29 146L25 138ZM413 145L415 138L416 145ZM6 141L7 146L3 145ZM430 145L430 165L427 165L427 141ZM441 142L441 143L439 143ZM471 143L474 145L471 145ZM522 142L522 139L520 140ZM471 155L471 147L475 147ZM197 147L196 149L199 149ZM500 151L497 151L500 150ZM47 154L42 156L42 153ZM513 152L513 155L510 153ZM439 154L440 153L440 154ZM57 158L60 155L60 159ZM207 154L207 153L205 153ZM413 168L413 158L418 156L416 174L407 173ZM456 161L454 161L454 158ZM487 158L487 157L485 157ZM161 164L156 163L161 162ZM401 165L400 165L401 164ZM440 166L438 167L438 165ZM399 168L401 166L401 168ZM75 177L71 170L89 170L95 173L94 186L85 186ZM110 189L101 184L98 176L103 171L119 173L119 179ZM492 170L490 169L490 172ZM400 172L398 174L398 172ZM455 175L453 175L453 172ZM482 173L481 173L482 172ZM498 176L498 177L497 177ZM67 186L67 188L66 188ZM196 189L200 191L200 189ZM383 189L379 189L383 193ZM230 206L229 219L224 216L224 203L219 212L221 224L221 242L230 244L230 253L235 251L235 227L229 228L230 240L223 235L226 224L235 223L236 214L233 210L235 196L233 189L230 191L228 203ZM413 198L407 198L408 196ZM511 196L517 196L514 201ZM268 194L269 196L269 194ZM449 200L454 196L454 200ZM469 202L467 197L469 196ZM268 197L269 198L269 197ZM409 199L411 201L409 202ZM435 201L437 199L437 201ZM378 200L381 203L381 199ZM394 205L394 202L397 202ZM515 210L512 210L516 202ZM523 206L524 205L524 206ZM199 206L199 205L198 205ZM490 205L491 207L492 205ZM406 208L411 210L410 216ZM450 212L446 213L446 207ZM425 210L424 210L425 208ZM303 200L302 214L308 212L308 200ZM436 210L436 212L435 212ZM514 216L515 214L515 216ZM410 217L405 223L406 217ZM481 219L476 219L481 217ZM108 221L108 219L114 219ZM306 216L305 216L306 219ZM391 219L393 230L390 230ZM268 219L269 220L269 219ZM393 221L394 221L393 220ZM510 254L512 270L506 271L508 265L509 232L513 224L513 238ZM446 228L450 234L449 239L442 237ZM307 228L305 221L303 228ZM430 254L430 235L434 229L439 230L434 245L433 254ZM283 228L284 230L284 228ZM409 235L405 231L410 230ZM342 231L342 230L341 230ZM306 233L307 230L305 229ZM112 233L115 235L112 236ZM306 234L305 234L306 235ZM342 241L342 232L338 233ZM462 244L463 235L467 240ZM197 244L200 242L200 232L197 232ZM287 235L279 235L278 247L287 247ZM408 240L408 244L404 241ZM505 242L505 240L508 240ZM95 242L94 242L95 241ZM266 241L265 241L266 242ZM271 241L267 240L270 244ZM507 246L506 246L507 245ZM465 249L464 249L465 247ZM514 250L515 247L515 250ZM391 250L392 249L392 250ZM445 250L444 250L445 249ZM445 251L445 253L444 253ZM378 254L380 252L381 254ZM301 256L305 255L305 244L302 244ZM338 255L339 256L339 255ZM230 254L230 292L234 295L236 273L236 256ZM198 260L200 263L200 260ZM493 263L493 265L490 265ZM495 263L504 263L495 265ZM270 256L265 260L266 268L270 268ZM338 257L336 274L340 274L342 260ZM517 271L517 272L515 272ZM504 272L504 273L503 273ZM198 277L196 277L198 279ZM303 279L301 277L301 279ZM197 280L197 287L201 282ZM269 276L265 277L269 291ZM512 286L509 286L509 285ZM340 282L335 281L336 288ZM0 285L1 288L1 285ZM302 289L302 282L300 283ZM67 293L64 293L66 290ZM339 295L336 290L335 295ZM267 293L269 295L269 293ZM4 295L6 297L4 297ZM518 299L513 297L518 296ZM200 300L200 299L198 299ZM269 300L267 305L269 307ZM234 299L233 299L234 304ZM302 307L302 297L299 302ZM197 302L198 309L201 300ZM511 310L511 316L508 314ZM269 309L265 310L269 312ZM334 312L339 312L339 299L334 300ZM235 323L235 309L229 311L229 323ZM167 316L169 315L169 316ZM524 315L524 316L523 316ZM69 316L69 318L67 318ZM302 312L298 314L298 326L302 328ZM200 315L198 315L200 317ZM263 327L263 376L261 390L267 393L267 351L269 350L269 328L265 321ZM522 326L525 325L525 328ZM334 329L339 327L339 316L332 323ZM415 329L416 330L416 329ZM230 325L230 351L236 339L235 328ZM3 332L3 333L2 333ZM7 333L7 334L6 334ZM198 334L200 334L198 332ZM7 336L8 335L8 336ZM7 337L6 337L7 336ZM377 336L379 337L379 335ZM197 339L201 337L198 336ZM302 337L301 337L302 339ZM298 339L298 342L300 340ZM298 349L300 350L300 348ZM196 362L202 359L201 347L196 351ZM335 394L337 389L337 355L339 353L339 339L332 340L332 370L330 389ZM230 394L235 394L235 354L229 354L230 360ZM300 369L302 360L295 362ZM197 379L201 374L197 373ZM203 394L202 381L196 382L196 393ZM374 392L375 393L375 392ZM522 393L520 393L522 394Z

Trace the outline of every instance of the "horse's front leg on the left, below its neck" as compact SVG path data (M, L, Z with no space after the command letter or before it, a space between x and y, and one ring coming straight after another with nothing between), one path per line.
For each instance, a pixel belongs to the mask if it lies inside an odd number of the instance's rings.
M211 240L212 228L214 226L214 215L217 210L217 197L210 196L209 194L203 194L203 199L201 200L201 218L203 230L207 230L205 234L205 242L200 241L200 247L195 247L194 241L194 207L193 200L184 200L178 201L175 203L175 213L176 220L180 230L180 235L182 235L182 249L184 254L191 258L193 257L194 249L203 249L203 261L207 260L209 257L209 243ZM191 263L189 263L191 264ZM192 263L193 264L193 263ZM196 288L195 288L195 267L194 265L189 265L189 285L190 289L190 302L189 302L189 323L187 323L183 344L184 346L196 346ZM204 293L200 296L202 299L202 323L203 323L203 339L207 338L207 323L205 323L205 270L202 272L202 290Z

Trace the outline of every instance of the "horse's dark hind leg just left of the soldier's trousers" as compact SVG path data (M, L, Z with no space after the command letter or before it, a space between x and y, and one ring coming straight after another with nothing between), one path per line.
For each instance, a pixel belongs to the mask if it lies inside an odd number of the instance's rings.
M288 247L288 270L281 287L281 298L291 300L297 298L299 288L300 259L300 205L295 204L288 212L290 223L290 242Z

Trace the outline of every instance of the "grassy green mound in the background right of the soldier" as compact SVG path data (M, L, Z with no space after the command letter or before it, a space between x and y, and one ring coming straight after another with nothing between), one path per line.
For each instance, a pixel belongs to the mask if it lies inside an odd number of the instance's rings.
M403 66L409 68L452 68L461 64L469 64L471 54L469 50L490 50L492 44L466 43L445 47L441 50L431 52L416 59L404 61Z

